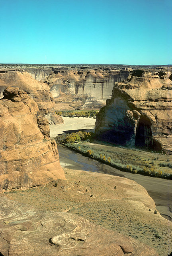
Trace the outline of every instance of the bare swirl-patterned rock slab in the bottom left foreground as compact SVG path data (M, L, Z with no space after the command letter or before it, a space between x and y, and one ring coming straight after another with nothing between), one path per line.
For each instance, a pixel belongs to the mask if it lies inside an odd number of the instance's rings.
M4 256L158 256L149 246L69 213L39 211L0 197Z

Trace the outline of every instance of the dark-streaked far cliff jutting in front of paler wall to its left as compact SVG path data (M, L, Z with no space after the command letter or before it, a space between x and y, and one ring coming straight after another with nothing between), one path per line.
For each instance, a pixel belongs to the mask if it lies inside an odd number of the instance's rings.
M128 70L54 70L47 82L56 101L58 97L73 96L73 101L82 101L84 108L104 106L111 96L115 82L123 81Z

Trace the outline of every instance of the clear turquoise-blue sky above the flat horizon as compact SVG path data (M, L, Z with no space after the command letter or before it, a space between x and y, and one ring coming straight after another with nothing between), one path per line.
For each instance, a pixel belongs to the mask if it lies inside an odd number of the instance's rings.
M172 0L0 0L0 63L172 64Z

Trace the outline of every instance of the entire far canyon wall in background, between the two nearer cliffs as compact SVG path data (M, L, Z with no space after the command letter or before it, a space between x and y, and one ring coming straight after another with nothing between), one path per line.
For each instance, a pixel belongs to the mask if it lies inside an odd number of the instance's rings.
M113 67L59 67L25 68L36 80L50 87L55 102L69 108L100 108L106 105L115 82L129 75L129 68ZM57 108L61 106L57 105ZM61 108L63 110L63 107Z

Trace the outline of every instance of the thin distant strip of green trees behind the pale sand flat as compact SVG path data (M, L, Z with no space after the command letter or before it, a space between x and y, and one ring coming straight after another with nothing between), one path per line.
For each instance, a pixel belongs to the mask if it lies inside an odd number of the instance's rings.
M67 117L88 117L88 116L96 116L99 111L90 110L90 111L75 111L72 112L71 110L68 111L58 111L56 112L59 116L67 116Z

